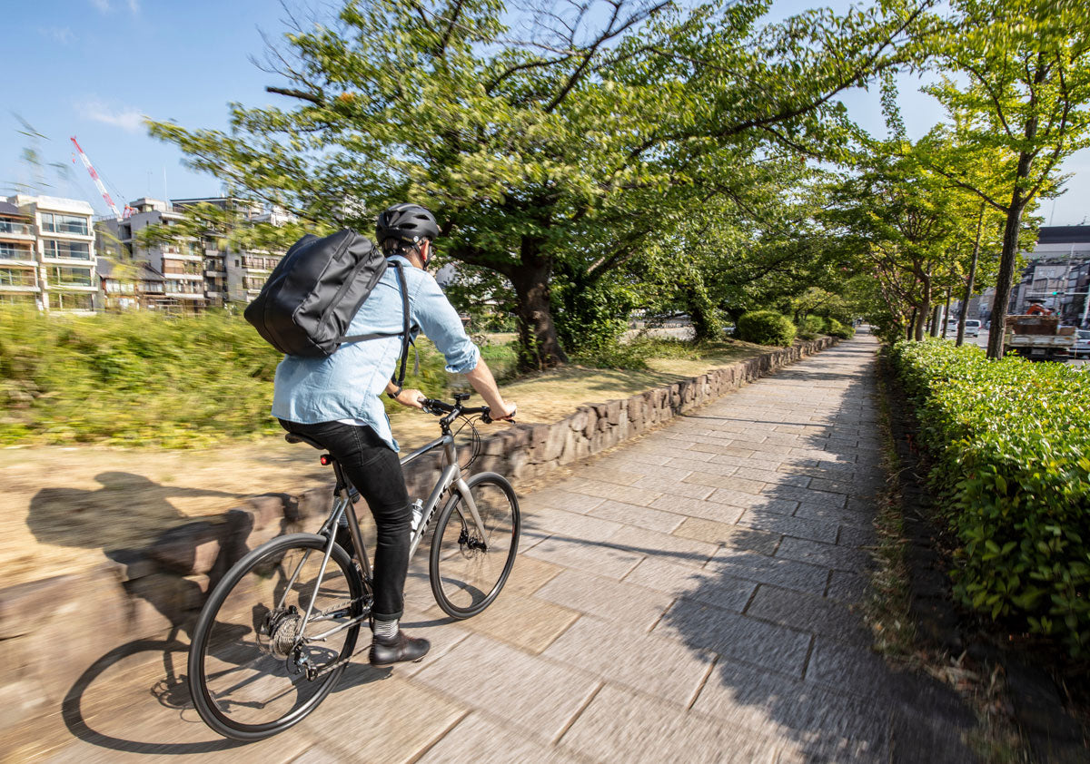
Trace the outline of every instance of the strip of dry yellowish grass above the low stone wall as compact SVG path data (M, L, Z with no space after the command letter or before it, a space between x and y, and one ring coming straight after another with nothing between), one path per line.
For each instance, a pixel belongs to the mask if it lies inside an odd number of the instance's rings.
M505 385L504 394L519 404L520 422L553 422L581 404L627 397L766 350L726 342L697 358L650 359L645 371L568 367ZM392 426L403 449L438 436L435 419L415 410L395 415ZM166 528L219 515L245 496L295 493L328 477L317 452L280 438L189 451L0 449L0 587L85 570L105 551L147 545Z

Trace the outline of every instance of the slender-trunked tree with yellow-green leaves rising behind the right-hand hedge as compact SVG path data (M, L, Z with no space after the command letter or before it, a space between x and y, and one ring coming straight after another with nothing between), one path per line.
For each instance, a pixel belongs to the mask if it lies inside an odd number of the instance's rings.
M943 77L928 88L949 112L957 138L956 150L929 167L1004 215L988 340L989 357L1000 358L1024 214L1054 193L1059 163L1090 144L1090 7L1081 0L953 4L956 26L936 36L936 60L968 83ZM989 165L989 187L965 171L981 152L998 158Z

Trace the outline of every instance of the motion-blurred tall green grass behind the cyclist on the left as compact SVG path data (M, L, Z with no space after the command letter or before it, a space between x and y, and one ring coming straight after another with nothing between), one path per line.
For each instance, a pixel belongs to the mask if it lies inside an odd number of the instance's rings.
M420 374L410 358L405 385L441 395L443 357L426 340L417 344ZM3 308L0 444L186 448L279 434L269 407L280 358L241 317L222 312L71 317Z

